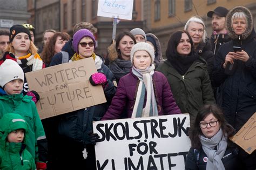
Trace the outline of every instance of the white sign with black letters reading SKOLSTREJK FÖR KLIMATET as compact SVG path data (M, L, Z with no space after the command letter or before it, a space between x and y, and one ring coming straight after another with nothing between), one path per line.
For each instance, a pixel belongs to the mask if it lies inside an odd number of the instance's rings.
M184 169L189 114L96 121L97 169Z

